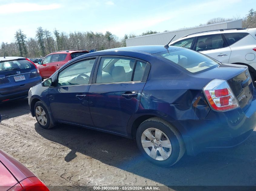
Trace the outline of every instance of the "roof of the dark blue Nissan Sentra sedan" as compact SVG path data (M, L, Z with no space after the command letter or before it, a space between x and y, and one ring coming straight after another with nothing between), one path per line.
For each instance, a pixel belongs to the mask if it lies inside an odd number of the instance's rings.
M179 49L179 48L180 47L177 47L177 46L169 46L168 50L170 51L170 50ZM155 54L155 53L167 51L167 49L165 49L165 47L163 45L127 46L127 47L101 50L101 51L98 51L98 52L95 52L95 53L110 52L110 51L130 51L130 52L136 51L136 52Z

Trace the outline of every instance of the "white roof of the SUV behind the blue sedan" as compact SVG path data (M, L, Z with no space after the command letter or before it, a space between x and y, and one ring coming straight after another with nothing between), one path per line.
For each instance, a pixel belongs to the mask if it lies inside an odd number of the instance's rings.
M205 32L199 32L199 33L194 33L194 34L188 34L184 37L181 37L173 42L171 42L170 44L173 44L175 42L178 42L180 40L183 39L189 39L189 38L193 38L193 37L200 37L200 36L205 36L205 35L211 35L211 34L222 34L222 33L246 33L248 29L223 29L223 30L214 30L214 31L205 31Z

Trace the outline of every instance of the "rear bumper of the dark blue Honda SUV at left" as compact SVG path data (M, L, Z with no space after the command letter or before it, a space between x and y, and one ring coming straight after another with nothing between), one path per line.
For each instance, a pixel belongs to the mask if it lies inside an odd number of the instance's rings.
M35 86L36 84L40 83L42 80L41 80L41 77L40 77L40 80L37 80L36 81L30 81L29 83L26 84L26 89L24 90L21 90L21 91L14 91L14 92L10 92L8 94L0 94L0 103L3 102L3 101L10 101L10 100L14 100L14 99L19 99L19 98L22 98L22 97L28 97L28 91L31 87ZM6 89L6 88L5 88ZM1 91L1 87L0 87L0 91Z

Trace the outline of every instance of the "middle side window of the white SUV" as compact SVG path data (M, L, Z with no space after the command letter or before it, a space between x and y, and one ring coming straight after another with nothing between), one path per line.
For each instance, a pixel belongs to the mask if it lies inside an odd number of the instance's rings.
M207 35L197 38L196 51L212 50L226 47L221 34Z

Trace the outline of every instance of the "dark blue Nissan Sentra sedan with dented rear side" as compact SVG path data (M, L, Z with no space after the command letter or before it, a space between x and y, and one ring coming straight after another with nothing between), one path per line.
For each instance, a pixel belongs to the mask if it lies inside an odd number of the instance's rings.
M67 123L136 139L149 161L165 167L185 151L238 145L256 125L247 66L176 46L79 56L31 88L28 99L42 128Z

